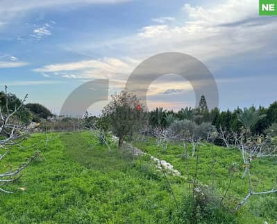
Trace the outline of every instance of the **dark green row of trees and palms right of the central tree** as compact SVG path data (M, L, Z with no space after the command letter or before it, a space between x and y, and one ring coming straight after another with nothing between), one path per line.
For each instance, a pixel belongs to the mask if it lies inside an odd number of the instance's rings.
M234 111L220 111L218 108L208 110L205 97L202 96L199 107L192 109L185 107L181 111L167 111L157 108L149 113L149 125L151 127L169 127L176 120L191 120L200 125L203 122L210 122L217 130L240 132L245 127L252 134L263 134L266 129L277 122L277 102L268 108L260 106Z

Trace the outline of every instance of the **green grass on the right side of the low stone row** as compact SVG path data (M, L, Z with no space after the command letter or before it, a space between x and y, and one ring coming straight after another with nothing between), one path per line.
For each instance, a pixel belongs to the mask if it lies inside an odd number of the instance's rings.
M169 144L166 151L156 145L156 140L150 138L149 141L134 143L144 152L155 157L164 159L174 166L181 174L187 177L187 163L183 157L184 149L181 145ZM192 157L192 147L188 145L190 158L188 160L190 178L194 175L196 156ZM212 155L215 155L214 157ZM212 165L212 158L215 159ZM237 164L232 184L224 204L229 209L235 208L249 193L249 183L247 178L242 179L244 168L241 154L235 149L214 146L206 143L201 145L199 154L198 179L201 184L215 185L217 193L224 195L230 180L230 167ZM277 158L265 157L251 162L251 181L255 191L268 191L276 186L277 182ZM212 169L214 166L214 169ZM213 180L213 181L212 181ZM270 205L270 206L268 206ZM237 221L240 223L276 223L277 221L277 193L271 195L253 195L249 202L237 214Z

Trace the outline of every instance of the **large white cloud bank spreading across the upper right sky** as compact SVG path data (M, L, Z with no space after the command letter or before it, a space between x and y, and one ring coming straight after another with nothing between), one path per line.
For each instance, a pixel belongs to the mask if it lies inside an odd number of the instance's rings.
M243 9L243 11L242 11ZM105 53L134 58L146 58L165 51L181 51L191 54L205 63L219 58L260 52L260 49L275 51L277 21L258 16L254 0L228 0L215 7L192 7L186 4L181 9L183 18L176 24L149 24L138 33L117 40L101 42L76 42L65 49L91 54L96 49ZM185 19L185 22L183 22ZM262 41L261 41L262 40ZM115 52L116 50L116 52ZM258 55L261 56L260 53Z

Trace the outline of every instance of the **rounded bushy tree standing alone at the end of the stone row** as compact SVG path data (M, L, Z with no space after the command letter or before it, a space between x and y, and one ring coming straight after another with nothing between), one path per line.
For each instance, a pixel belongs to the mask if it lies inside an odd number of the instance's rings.
M133 93L122 91L112 96L112 100L102 110L102 117L110 124L112 133L119 138L119 147L126 136L144 125L144 111L140 100Z

